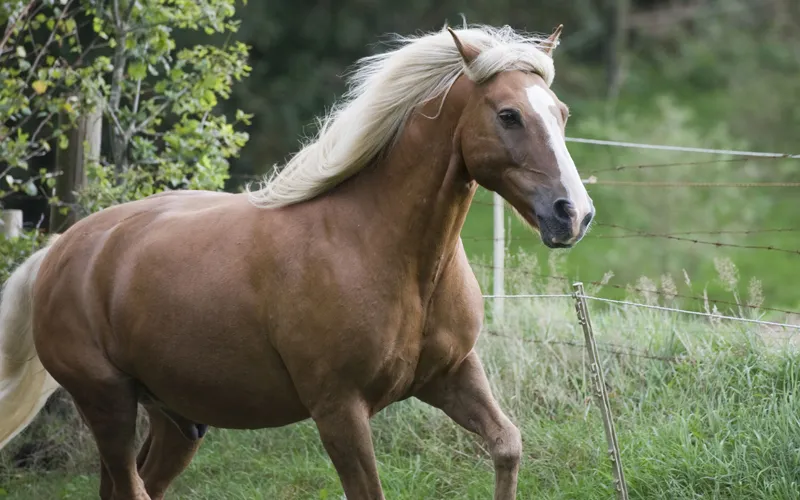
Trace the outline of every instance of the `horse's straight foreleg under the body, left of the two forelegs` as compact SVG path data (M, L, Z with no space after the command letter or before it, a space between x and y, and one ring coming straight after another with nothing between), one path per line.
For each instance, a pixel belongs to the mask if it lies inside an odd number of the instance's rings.
M384 500L364 405L326 411L315 415L314 421L347 499Z

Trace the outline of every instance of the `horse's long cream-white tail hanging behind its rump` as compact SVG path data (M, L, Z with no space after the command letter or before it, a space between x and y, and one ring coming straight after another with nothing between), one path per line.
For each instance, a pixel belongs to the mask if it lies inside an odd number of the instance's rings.
M31 423L59 387L42 366L33 344L33 283L46 254L47 248L42 248L31 255L3 287L0 301L0 449Z

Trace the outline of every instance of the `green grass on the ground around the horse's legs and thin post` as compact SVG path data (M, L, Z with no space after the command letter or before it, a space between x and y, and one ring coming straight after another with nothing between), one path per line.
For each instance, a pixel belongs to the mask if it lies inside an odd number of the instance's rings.
M512 274L509 288L531 291L528 281ZM538 291L564 290L553 282ZM800 358L790 337L658 311L597 303L590 309L631 498L800 498ZM481 336L495 394L523 435L521 499L613 497L584 353L570 343L582 343L570 299L509 300L502 321ZM630 350L674 360L615 354ZM64 418L47 416L26 431L27 441L46 436L62 450L51 470L13 466L25 437L0 454L0 496L96 497L93 443L74 415L66 417L69 425ZM387 498L491 497L493 473L482 443L438 411L399 403L374 418L373 430ZM171 493L293 500L341 498L342 490L306 422L212 429Z

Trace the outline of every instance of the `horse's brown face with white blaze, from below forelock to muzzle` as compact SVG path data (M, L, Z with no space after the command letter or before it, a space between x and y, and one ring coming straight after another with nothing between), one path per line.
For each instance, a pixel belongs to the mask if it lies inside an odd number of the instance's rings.
M577 243L594 217L567 150L568 114L539 75L509 71L476 85L461 119L470 175L505 198L551 248Z

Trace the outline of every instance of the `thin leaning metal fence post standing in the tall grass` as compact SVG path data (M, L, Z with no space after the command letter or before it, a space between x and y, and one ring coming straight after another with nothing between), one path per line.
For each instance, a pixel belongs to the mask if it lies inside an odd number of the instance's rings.
M617 443L617 431L614 428L614 419L611 415L611 405L608 402L608 392L606 392L606 382L603 379L603 368L600 365L600 356L597 352L597 344L594 340L592 321L589 317L589 308L586 305L586 295L583 292L583 283L572 285L574 290L572 296L575 298L575 312L578 314L578 323L583 328L583 336L586 339L586 351L589 353L589 368L592 374L592 394L594 395L597 406L603 415L603 427L606 432L608 442L608 455L611 459L611 472L614 474L614 486L617 491L617 498L628 500L628 485L625 483L625 474L622 471L622 457Z

